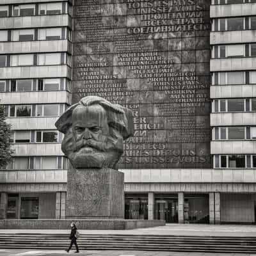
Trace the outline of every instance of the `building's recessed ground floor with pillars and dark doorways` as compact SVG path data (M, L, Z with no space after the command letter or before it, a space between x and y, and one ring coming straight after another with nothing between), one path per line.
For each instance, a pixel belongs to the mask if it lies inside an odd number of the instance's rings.
M65 218L66 192L1 193L1 219ZM125 193L125 219L255 223L255 193Z

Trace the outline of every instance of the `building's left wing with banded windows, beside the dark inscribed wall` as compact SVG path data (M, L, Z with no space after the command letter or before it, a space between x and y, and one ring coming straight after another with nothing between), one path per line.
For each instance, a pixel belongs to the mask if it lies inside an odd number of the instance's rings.
M71 103L72 4L1 1L0 91L13 162L1 170L3 218L55 218L67 158L54 123Z

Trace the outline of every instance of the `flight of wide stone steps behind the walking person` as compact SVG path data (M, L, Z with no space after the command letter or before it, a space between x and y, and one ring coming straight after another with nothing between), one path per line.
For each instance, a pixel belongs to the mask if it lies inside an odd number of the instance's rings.
M81 250L256 253L255 237L83 234L77 242ZM69 243L68 234L0 234L0 248L59 250Z

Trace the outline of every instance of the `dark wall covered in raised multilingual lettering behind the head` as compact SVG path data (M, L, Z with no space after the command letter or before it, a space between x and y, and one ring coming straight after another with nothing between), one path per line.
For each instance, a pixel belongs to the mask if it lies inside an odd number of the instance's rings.
M75 0L73 102L132 109L119 168L211 168L210 0Z

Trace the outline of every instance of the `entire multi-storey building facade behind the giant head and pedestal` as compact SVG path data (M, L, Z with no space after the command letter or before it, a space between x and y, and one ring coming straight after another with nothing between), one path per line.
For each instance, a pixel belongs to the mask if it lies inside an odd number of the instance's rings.
M132 109L125 218L255 223L256 1L4 0L4 219L65 218L54 123L87 95Z

